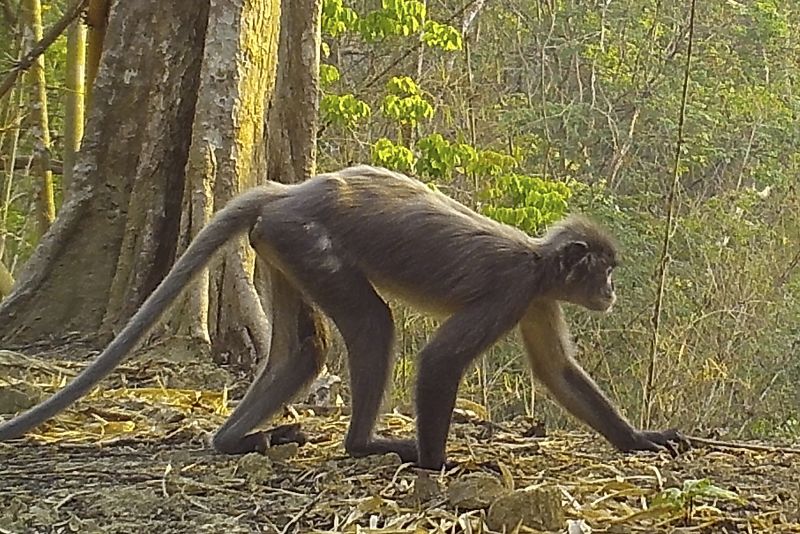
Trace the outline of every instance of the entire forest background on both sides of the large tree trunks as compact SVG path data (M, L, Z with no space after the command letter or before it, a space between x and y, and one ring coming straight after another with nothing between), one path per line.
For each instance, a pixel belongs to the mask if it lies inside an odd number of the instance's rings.
M2 296L59 212L83 122L66 35L43 68L5 73L37 16L35 40L71 5L0 2ZM661 0L325 0L317 168L407 172L531 233L567 212L602 221L623 249L620 302L569 314L603 389L643 425L797 439L797 20L775 0L694 18ZM396 314L406 403L435 323ZM513 336L491 349L461 396L495 420L571 424L519 353ZM346 375L341 354L329 366Z

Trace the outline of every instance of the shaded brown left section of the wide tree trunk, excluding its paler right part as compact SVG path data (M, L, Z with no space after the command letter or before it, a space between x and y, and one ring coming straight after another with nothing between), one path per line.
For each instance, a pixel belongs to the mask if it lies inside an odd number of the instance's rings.
M206 20L203 3L114 3L72 196L0 305L0 339L107 334L171 266Z

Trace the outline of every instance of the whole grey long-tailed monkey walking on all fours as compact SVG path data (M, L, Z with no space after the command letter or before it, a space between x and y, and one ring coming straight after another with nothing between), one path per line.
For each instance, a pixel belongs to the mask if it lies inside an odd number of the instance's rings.
M574 358L562 304L609 312L618 246L590 219L571 215L541 237L485 217L425 183L357 165L298 184L267 182L232 198L198 233L105 350L66 387L0 425L0 441L58 414L109 374L168 306L234 236L301 295L297 340L269 373L256 373L212 438L244 454L269 446L256 427L319 373L327 320L347 352L352 457L397 453L426 469L446 463L457 390L470 364L519 327L535 377L568 412L620 451L671 450L677 429L637 430ZM380 293L379 293L380 292ZM392 367L396 297L442 322L418 354L416 439L379 437L374 427ZM281 313L281 310L276 310ZM327 319L326 319L327 318Z

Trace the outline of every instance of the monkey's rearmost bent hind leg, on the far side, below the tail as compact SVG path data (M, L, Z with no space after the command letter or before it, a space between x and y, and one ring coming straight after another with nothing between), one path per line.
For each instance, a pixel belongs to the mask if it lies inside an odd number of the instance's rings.
M253 432L319 374L327 355L324 318L299 294L297 298L299 306L275 310L269 358L278 363L259 367L244 398L217 430L213 443L219 452L263 452L272 445L305 441L298 425Z

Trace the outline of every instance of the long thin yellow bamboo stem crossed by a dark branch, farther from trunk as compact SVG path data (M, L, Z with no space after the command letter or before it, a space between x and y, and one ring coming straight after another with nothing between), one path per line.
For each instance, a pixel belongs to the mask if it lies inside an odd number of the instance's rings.
M39 0L22 2L24 45L30 50L44 36L42 5ZM33 169L39 179L36 203L36 228L43 235L56 217L53 197L53 173L50 172L50 125L47 118L47 84L44 77L44 56L39 55L28 73L31 82L31 121L34 137Z

